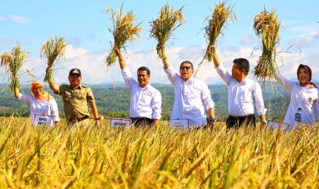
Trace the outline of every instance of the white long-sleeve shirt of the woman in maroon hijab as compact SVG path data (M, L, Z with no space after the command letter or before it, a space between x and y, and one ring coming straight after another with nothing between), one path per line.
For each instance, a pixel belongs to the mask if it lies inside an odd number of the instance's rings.
M286 79L280 74L275 74L276 81L290 92L290 104L285 115L284 123L290 124L293 129L298 123L315 125L319 121L318 89L309 86L300 86L299 82ZM298 111L298 108L301 108ZM296 113L300 113L300 122L296 121Z

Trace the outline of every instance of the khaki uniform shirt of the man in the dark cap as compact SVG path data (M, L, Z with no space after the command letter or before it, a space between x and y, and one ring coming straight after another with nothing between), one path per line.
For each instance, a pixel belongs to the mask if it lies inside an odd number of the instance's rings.
M59 86L58 95L62 96L67 120L90 116L88 103L95 103L95 99L88 86L80 85L77 88L72 88L71 85L62 85Z

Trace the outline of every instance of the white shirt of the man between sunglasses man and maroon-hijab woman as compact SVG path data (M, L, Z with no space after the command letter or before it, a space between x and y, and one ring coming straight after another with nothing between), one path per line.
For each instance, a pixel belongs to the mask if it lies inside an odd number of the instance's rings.
M265 114L267 110L263 104L263 94L258 82L246 77L244 81L238 83L222 64L216 67L216 70L228 87L228 113L231 116L255 114L254 105L259 116Z

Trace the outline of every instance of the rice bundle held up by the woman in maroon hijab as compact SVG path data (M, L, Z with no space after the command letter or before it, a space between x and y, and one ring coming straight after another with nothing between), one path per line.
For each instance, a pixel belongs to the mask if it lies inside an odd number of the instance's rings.
M279 45L279 29L283 27L278 20L278 14L263 10L254 18L255 34L261 39L263 52L259 57L257 66L255 66L254 75L256 78L272 79L274 77L276 66L276 47Z

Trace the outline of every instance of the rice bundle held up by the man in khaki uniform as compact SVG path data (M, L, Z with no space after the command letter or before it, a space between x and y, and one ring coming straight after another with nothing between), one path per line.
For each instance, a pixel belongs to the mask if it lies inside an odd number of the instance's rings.
M60 58L64 58L65 47L68 44L64 42L64 38L49 38L40 49L41 59L45 58L49 67L58 64ZM53 73L46 73L43 81L53 81Z

